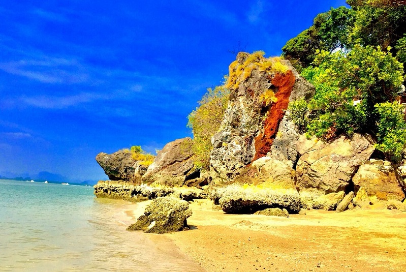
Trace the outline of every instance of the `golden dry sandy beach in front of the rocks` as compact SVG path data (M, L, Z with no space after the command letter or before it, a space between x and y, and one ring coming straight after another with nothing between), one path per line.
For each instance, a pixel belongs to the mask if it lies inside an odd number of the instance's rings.
M289 218L190 205L189 231L165 234L206 271L406 271L406 213L309 210Z

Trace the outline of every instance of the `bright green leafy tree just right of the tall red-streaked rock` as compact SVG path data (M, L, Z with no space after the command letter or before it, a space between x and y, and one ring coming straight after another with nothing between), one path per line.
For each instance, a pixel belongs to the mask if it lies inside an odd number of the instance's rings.
M349 52L321 51L314 63L318 66L302 72L316 87L307 132L326 139L354 131L376 133L374 106L394 100L403 81L402 64L379 47L360 45Z

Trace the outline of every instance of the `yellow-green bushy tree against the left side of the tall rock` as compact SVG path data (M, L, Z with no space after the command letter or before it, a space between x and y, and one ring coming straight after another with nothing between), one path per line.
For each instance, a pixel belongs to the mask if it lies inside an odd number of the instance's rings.
M211 137L220 128L228 100L229 90L225 86L208 88L199 101L199 107L188 116L188 127L192 129L194 136L195 166L199 169L209 169L210 151L213 148Z

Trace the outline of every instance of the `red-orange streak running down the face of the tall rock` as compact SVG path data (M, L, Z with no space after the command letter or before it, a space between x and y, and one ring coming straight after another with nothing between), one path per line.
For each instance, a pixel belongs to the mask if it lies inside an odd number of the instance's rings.
M295 76L291 70L286 75L276 74L272 79L272 85L278 87L275 96L277 102L274 103L269 111L268 117L264 122L264 132L255 137L255 157L253 161L266 156L271 150L273 139L276 136L280 120L288 109L289 97L295 84Z

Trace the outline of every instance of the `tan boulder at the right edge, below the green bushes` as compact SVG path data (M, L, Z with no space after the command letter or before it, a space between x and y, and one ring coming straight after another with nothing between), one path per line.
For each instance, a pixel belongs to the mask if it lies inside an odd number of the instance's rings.
M403 201L405 197L403 180L392 165L363 164L353 183L356 193L363 187L370 199Z

